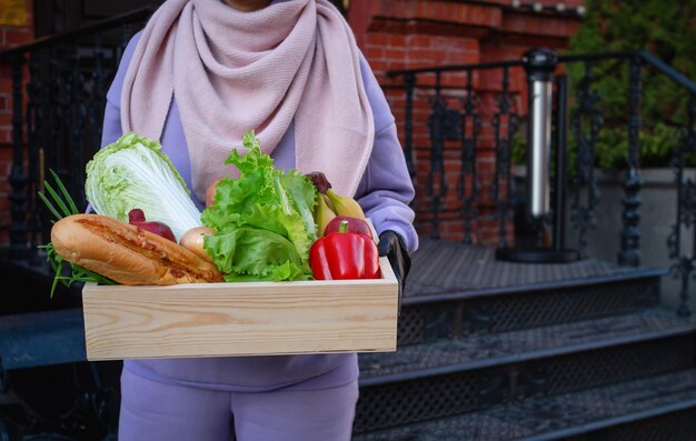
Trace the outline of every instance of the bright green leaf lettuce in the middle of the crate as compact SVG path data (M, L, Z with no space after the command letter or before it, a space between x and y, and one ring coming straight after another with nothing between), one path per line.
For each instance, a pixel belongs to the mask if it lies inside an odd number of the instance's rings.
M276 169L252 131L242 143L248 153L232 150L225 162L237 167L239 178L222 179L213 206L201 216L216 232L203 247L227 281L308 280L309 248L317 238L315 187L296 170Z

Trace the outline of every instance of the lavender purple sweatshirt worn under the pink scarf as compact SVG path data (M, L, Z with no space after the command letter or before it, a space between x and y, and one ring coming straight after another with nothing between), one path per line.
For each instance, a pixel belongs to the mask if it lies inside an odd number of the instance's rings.
M102 147L115 142L122 134L121 88L139 39L140 33L129 42L107 94ZM408 206L414 198L414 187L389 104L361 54L360 61L365 89L375 117L375 146L355 198L366 216L371 218L378 233L394 230L412 252L418 248L418 235L412 227L414 211ZM192 188L188 148L176 98L160 142L162 152L171 159L188 188ZM279 169L295 168L292 126L274 150L272 158ZM191 197L202 210L205 203L193 193ZM332 388L350 383L359 374L356 353L125 360L123 368L159 382L239 392Z

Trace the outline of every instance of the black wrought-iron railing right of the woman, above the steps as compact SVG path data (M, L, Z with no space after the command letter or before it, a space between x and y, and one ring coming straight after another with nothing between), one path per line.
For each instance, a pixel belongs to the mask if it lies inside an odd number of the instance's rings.
M676 84L683 92L684 100L688 101L687 121L682 128L682 140L675 149L672 166L676 176L678 189L677 216L668 238L672 273L682 281L680 302L678 313L689 314L688 297L689 281L696 272L696 239L693 244L685 243L686 230L696 229L696 184L684 173L686 160L696 152L696 83L677 72L672 67L656 59L645 51L622 51L609 53L569 54L559 56L559 71L570 66L584 68L579 81L571 84L574 90L573 102L568 110L569 122L565 118L555 119L555 130L567 130L571 138L571 151L575 164L564 179L563 189L567 190L568 206L571 212L569 223L577 235L577 247L583 258L588 255L588 235L597 227L597 210L600 191L595 176L596 146L598 137L605 127L601 97L596 90L598 80L596 68L612 64L601 69L603 72L612 69L627 69L628 99L626 106L625 133L627 138L627 153L620 204L622 229L619 232L617 261L622 265L638 267L642 263L640 254L640 196L643 182L640 177L640 132L644 129L640 104L643 98L643 82L646 69L652 69ZM525 60L509 60L478 64L439 66L410 70L389 71L397 87L404 90L405 121L404 148L407 163L419 191L419 201L416 207L420 210L420 219L426 219L427 229L432 239L441 237L444 217L453 222L461 222L463 241L473 243L473 227L477 216L485 211L487 220L497 223L497 238L488 240L488 244L497 242L498 247L507 247L509 241L509 225L513 222L513 208L518 202L515 190L515 179L510 176L513 144L519 127L525 123L520 118L518 101L524 96L524 84L516 84L510 89L511 78L524 78L520 71ZM515 77L514 73L517 76ZM445 81L446 76L451 76ZM496 78L491 87L491 78ZM557 78L566 78L558 73ZM399 82L399 79L402 81ZM479 86L475 87L475 79ZM480 83L486 82L485 87ZM491 99L483 96L488 94ZM430 101L430 111L427 116L427 127L422 117L418 119L414 109L418 108L418 100ZM453 102L455 103L453 106ZM485 104L484 104L485 102ZM558 109L556 109L556 112ZM526 116L525 116L526 117ZM565 124L569 127L565 127ZM564 126L559 129L559 126ZM487 134L481 136L481 128ZM424 134L418 131L427 131ZM420 137L419 137L420 134ZM427 139L420 144L417 139ZM448 144L449 143L449 144ZM449 151L458 150L454 168L448 167L445 146ZM481 152L493 152L495 162L493 173L481 182L480 171L486 164L477 157ZM429 156L429 169L424 172L415 167L418 157ZM456 186L457 192L448 190ZM483 189L483 191L481 191ZM551 194L554 197L554 194ZM563 197L563 196L561 196ZM523 197L524 199L524 197ZM551 207L561 207L555 201ZM519 228L519 225L517 225ZM479 225L480 230L480 225ZM519 233L519 231L517 231ZM537 243L543 242L543 230L535 231ZM519 234L518 234L519 235ZM519 237L516 237L519 240ZM480 242L484 242L481 240Z

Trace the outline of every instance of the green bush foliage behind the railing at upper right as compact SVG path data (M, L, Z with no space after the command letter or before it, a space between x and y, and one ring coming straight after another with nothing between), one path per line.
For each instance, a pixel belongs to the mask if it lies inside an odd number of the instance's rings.
M587 14L570 41L570 53L647 50L687 78L696 79L696 2L586 0ZM679 128L686 123L687 92L668 77L649 68L642 70L639 136L640 166L665 167L679 144ZM583 63L568 66L574 92L585 76ZM616 60L593 67L591 89L599 94L604 124L595 144L596 166L624 167L628 153L629 72ZM589 127L589 121L584 121ZM569 137L570 143L576 140ZM570 146L574 149L574 146Z

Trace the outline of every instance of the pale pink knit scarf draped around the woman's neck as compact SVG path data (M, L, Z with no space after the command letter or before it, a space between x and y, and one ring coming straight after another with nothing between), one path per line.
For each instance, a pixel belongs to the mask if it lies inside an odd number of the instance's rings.
M375 137L358 50L327 0L241 12L221 0L167 0L133 52L121 97L123 131L161 139L176 97L201 200L230 150L255 130L270 153L295 122L296 168L324 171L352 196Z

